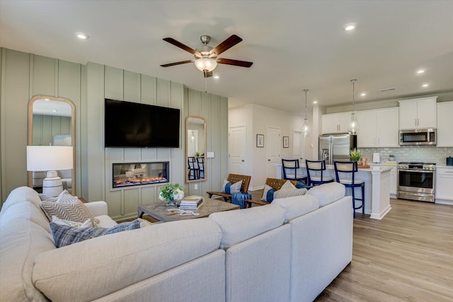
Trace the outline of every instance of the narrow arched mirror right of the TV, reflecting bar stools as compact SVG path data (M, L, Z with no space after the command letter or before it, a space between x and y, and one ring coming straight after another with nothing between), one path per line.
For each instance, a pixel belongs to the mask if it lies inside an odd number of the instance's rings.
M186 182L206 180L206 120L197 115L185 119Z

